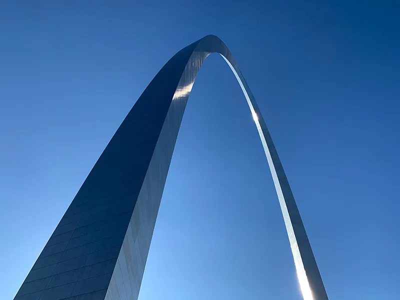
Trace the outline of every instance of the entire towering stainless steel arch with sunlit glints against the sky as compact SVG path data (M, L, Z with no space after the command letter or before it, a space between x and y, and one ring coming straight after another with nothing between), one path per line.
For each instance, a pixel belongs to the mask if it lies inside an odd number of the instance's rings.
M196 74L222 55L250 107L275 184L302 295L327 295L289 183L254 97L225 44L177 52L129 111L83 182L15 300L137 299L176 137Z

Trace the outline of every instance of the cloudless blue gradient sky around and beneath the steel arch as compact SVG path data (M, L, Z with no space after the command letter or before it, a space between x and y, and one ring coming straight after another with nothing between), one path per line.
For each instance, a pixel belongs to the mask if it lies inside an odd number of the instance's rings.
M148 82L212 33L269 126L329 298L398 299L396 2L1 1L0 298ZM186 107L139 299L301 299L258 133L216 54Z

